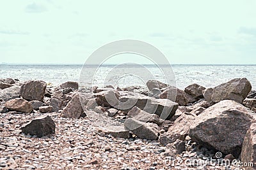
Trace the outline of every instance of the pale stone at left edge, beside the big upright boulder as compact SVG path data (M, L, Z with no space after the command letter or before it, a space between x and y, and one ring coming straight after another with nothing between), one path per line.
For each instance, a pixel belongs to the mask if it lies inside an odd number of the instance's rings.
M13 85L7 89L0 90L0 99L3 101L10 101L10 99L15 99L20 97L20 87Z

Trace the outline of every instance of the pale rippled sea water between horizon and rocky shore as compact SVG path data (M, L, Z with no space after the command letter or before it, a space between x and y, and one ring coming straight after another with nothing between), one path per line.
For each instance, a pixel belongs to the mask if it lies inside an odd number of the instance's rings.
M164 74L161 69L168 70ZM145 86L152 78L166 82L173 81L180 89L192 83L214 87L233 78L247 78L256 89L256 65L8 65L0 64L0 78L18 78L20 81L44 80L49 85L60 85L65 81L79 81L83 86L131 85ZM82 83L83 82L83 83Z

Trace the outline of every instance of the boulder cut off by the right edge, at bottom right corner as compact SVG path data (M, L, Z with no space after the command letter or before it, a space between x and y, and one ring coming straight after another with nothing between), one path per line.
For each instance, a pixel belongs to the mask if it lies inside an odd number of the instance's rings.
M241 151L241 162L252 162L256 167L256 123L250 125L246 132ZM248 169L250 169L248 167ZM251 167L251 169L253 169Z

